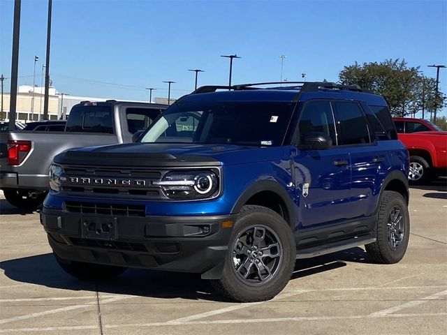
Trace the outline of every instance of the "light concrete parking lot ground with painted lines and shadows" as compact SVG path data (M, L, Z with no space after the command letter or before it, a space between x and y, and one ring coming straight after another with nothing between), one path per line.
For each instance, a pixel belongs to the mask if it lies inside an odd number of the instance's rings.
M297 262L271 301L235 304L191 274L131 269L85 283L55 262L38 213L0 198L1 334L446 334L447 179L411 188L396 265L362 248Z

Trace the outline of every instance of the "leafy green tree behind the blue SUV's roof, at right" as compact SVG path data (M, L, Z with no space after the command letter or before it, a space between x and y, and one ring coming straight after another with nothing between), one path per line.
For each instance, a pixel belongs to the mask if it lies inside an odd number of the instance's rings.
M341 84L358 84L383 96L394 116L444 107L446 96L436 96L436 80L425 77L419 67L409 68L405 60L386 59L381 63L357 62L339 73Z

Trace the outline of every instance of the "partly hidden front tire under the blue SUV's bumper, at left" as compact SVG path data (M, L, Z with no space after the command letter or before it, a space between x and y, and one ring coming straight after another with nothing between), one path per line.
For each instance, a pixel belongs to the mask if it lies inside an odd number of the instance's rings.
M71 274L71 276L82 281L104 281L112 279L127 269L126 267L115 267L113 265L61 260L56 254L54 254L54 257L67 274Z

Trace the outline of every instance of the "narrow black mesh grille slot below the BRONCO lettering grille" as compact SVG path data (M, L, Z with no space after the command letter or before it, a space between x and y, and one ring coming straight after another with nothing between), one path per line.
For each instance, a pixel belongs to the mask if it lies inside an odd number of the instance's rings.
M145 216L146 207L140 204L103 204L99 202L67 201L65 209L71 213Z

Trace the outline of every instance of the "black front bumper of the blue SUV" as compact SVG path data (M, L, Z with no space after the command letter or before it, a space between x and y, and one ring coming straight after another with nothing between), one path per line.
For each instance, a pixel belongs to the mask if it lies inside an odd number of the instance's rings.
M235 215L109 216L43 207L41 223L62 260L221 276Z

